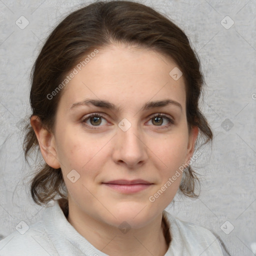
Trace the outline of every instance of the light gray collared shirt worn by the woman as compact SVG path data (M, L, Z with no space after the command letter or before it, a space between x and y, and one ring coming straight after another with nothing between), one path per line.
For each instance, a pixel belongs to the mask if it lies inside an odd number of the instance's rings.
M167 211L163 214L170 223L171 237L164 256L223 256L217 238L208 229ZM57 201L44 209L40 221L29 227L21 222L17 229L0 241L0 256L107 256L76 231Z

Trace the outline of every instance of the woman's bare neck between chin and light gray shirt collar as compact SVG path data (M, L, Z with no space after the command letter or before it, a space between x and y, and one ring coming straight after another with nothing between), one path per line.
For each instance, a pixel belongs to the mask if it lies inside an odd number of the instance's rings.
M164 256L168 249L169 240L164 237L166 222L162 214L146 226L131 228L124 233L118 227L83 212L69 210L67 220L95 248L111 256L119 256L120 251L122 256Z

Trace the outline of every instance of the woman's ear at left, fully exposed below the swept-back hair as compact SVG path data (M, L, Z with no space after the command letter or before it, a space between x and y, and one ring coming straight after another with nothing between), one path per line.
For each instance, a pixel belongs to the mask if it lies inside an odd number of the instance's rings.
M36 115L31 116L30 124L37 137L40 151L44 161L52 168L59 168L57 158L56 143L54 135L42 125L40 118Z

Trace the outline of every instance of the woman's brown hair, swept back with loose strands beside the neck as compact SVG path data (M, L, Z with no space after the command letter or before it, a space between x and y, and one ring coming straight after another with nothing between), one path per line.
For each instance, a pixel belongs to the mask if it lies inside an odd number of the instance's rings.
M82 7L65 17L44 43L31 72L30 105L32 115L54 132L54 120L61 91L52 99L50 94L85 54L112 42L138 45L171 57L182 71L186 86L186 118L188 128L199 127L199 144L212 140L210 127L198 108L203 76L197 55L184 32L164 15L141 3L131 1L98 1ZM30 116L30 117L31 117ZM24 154L32 149L39 152L35 133L25 127ZM203 143L200 140L203 138ZM186 196L194 192L198 178L189 165L183 172L179 190ZM67 202L61 169L37 166L31 180L30 192L38 204L45 204L56 195Z

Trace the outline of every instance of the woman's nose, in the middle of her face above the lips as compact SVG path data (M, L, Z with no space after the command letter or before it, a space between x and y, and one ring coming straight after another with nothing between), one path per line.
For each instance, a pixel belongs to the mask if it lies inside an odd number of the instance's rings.
M117 164L123 164L129 168L142 165L148 157L142 131L135 124L132 124L127 130L120 127L117 128L115 136L113 160Z

